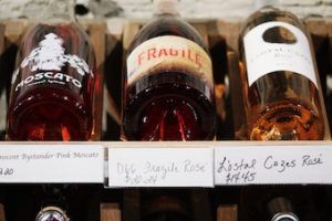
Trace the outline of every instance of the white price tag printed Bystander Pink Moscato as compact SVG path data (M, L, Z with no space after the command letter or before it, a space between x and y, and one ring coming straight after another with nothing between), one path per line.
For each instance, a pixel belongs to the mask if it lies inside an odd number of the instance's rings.
M0 145L0 182L103 183L98 145Z

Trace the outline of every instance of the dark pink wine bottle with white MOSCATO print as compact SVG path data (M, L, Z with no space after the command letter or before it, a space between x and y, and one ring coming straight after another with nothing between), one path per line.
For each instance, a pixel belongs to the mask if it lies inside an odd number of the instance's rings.
M92 131L94 52L74 0L50 1L22 38L12 75L10 140L87 140Z

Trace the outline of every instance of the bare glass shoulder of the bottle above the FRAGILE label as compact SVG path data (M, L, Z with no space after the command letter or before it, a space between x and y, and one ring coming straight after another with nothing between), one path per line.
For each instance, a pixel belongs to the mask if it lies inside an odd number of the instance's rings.
M188 22L174 15L162 15L154 18L139 30L135 35L128 52L149 39L164 35L175 35L188 39L207 51L207 45L203 38Z

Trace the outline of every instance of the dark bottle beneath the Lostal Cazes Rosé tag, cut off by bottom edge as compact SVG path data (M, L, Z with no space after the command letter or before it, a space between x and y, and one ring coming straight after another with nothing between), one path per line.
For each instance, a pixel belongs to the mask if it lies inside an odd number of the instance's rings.
M240 191L241 221L319 220L311 187L249 186Z

